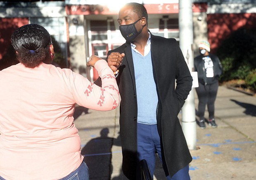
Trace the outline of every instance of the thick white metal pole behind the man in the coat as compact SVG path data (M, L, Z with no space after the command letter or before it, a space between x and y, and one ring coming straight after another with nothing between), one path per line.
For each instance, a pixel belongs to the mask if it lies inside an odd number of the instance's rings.
M194 68L192 0L179 0L179 30L180 48L192 72ZM182 108L182 129L190 150L196 149L196 125L194 88L192 88Z

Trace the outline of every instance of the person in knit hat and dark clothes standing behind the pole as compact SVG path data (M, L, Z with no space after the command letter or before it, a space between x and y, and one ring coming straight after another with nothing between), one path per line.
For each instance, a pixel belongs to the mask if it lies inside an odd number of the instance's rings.
M204 112L207 105L209 111L208 124L215 128L218 125L214 117L214 103L218 91L218 78L222 74L222 66L216 55L210 53L210 44L208 41L201 41L199 44L200 55L194 58L194 70L198 74L199 87L196 88L198 96L198 112L199 121L197 124L201 129L206 128Z

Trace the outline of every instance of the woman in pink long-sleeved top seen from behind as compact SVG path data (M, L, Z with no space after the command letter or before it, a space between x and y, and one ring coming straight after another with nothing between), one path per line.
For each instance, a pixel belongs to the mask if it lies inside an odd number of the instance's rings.
M119 105L113 71L105 60L90 58L100 88L51 65L51 37L40 25L18 28L11 40L20 63L0 71L0 179L88 180L73 113L76 104L99 111Z

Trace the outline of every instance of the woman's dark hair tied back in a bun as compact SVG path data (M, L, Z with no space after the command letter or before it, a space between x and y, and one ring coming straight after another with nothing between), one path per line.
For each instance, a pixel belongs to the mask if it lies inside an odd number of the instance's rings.
M49 32L38 24L27 24L16 29L11 37L12 46L17 51L17 59L25 67L34 68L43 61L50 61Z

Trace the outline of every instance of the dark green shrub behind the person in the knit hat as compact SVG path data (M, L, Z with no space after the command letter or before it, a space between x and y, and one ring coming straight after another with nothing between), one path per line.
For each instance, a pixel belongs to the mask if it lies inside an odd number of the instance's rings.
M247 78L256 68L256 38L240 29L225 39L216 55L223 66L220 82Z

